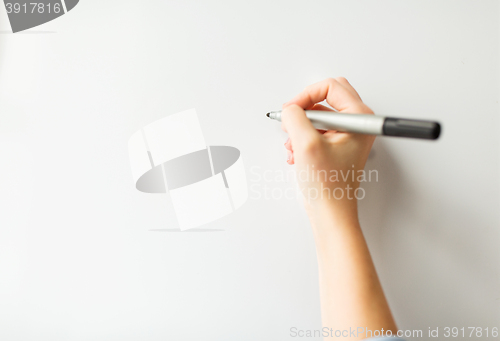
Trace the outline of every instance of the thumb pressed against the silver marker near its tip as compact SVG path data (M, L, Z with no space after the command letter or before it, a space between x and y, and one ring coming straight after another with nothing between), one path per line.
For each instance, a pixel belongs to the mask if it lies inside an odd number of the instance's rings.
M290 136L295 150L308 146L321 137L307 118L304 109L296 104L289 105L281 111L281 125Z

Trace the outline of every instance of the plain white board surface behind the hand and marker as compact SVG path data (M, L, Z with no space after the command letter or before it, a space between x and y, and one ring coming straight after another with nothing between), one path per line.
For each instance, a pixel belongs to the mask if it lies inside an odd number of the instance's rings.
M375 112L443 124L435 143L377 140L367 165L379 182L361 220L399 327L498 326L499 14L487 0L85 0L34 29L55 33L0 34L0 339L319 328L301 202L265 196L295 186L266 180L290 167L264 114L329 76ZM127 141L191 107L262 196L208 226L223 232L150 232L175 214L133 186Z

